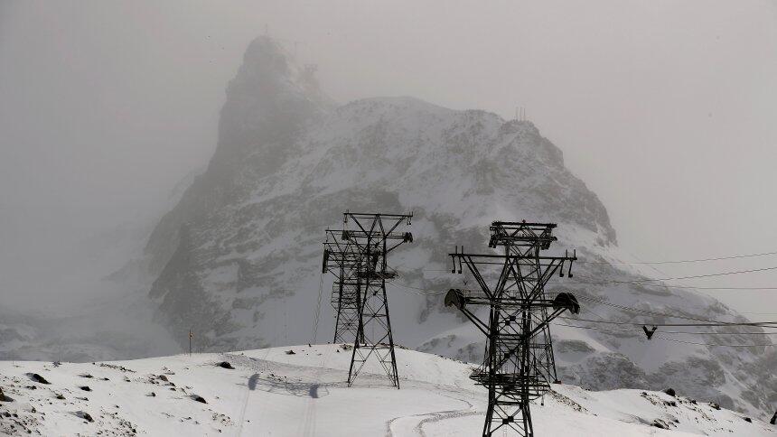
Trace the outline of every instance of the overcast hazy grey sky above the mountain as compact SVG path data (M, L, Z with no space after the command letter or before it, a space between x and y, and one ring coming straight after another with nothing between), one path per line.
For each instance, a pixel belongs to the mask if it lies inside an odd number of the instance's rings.
M160 208L207 163L226 83L266 29L317 63L343 103L411 95L505 117L526 107L633 256L777 250L775 2L5 1L5 302L78 270L85 237ZM661 270L772 265L777 256ZM693 284L774 286L777 274ZM715 295L744 311L777 303Z

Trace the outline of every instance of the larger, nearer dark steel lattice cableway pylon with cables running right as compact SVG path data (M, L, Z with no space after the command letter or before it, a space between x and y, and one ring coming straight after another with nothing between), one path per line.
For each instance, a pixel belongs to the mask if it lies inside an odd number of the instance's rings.
M484 437L508 429L531 437L534 430L529 401L544 395L556 380L553 346L548 323L563 311L577 313L580 305L571 293L545 294L545 284L557 272L571 274L569 256L541 256L557 240L555 224L500 222L491 224L491 248L504 253L470 254L458 247L450 254L453 273L463 265L481 290L452 289L445 305L454 306L486 336L481 367L470 376L488 388L489 402L483 425ZM477 312L480 308L488 311Z

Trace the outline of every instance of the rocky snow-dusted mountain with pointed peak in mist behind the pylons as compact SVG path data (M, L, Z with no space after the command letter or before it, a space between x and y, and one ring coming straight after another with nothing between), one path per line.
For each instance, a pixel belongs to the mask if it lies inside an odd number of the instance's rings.
M148 240L149 296L182 344L190 328L199 347L212 351L329 339L332 278L321 276L321 243L324 228L338 226L346 209L415 215L415 242L390 259L400 278L389 289L394 338L411 349L480 360L483 339L444 307L440 292L466 279L450 274L446 254L454 245L489 250L495 219L558 223L549 252L576 248L580 263L574 280L558 278L550 290L575 293L585 319L677 321L661 315L672 313L744 320L702 294L628 283L643 275L610 264L624 256L604 205L531 123L417 98L338 107L313 71L296 67L269 38L250 43L227 89L211 163ZM626 283L585 284L607 279ZM588 324L564 320L553 329L565 383L672 386L743 411L777 404L773 348L709 345L769 343L766 336L710 341L659 331L649 341L639 327L561 325Z

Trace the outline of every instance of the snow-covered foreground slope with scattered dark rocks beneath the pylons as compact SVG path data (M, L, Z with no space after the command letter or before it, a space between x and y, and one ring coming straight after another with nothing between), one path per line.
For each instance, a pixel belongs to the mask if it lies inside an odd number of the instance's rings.
M376 373L362 373L347 387L351 355L342 345L57 366L3 361L0 386L13 401L0 403L0 432L396 437L481 432L486 391L468 378L469 365L405 349L397 357L400 390L376 367L367 369ZM225 360L235 368L217 366ZM33 381L31 373L50 384ZM744 414L682 394L553 385L544 405L538 401L531 409L535 431L543 436L777 434L757 418L748 422Z

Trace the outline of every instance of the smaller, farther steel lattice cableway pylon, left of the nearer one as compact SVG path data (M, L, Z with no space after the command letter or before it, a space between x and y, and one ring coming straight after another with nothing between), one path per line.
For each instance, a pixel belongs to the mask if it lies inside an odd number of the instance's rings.
M334 341L353 344L348 385L374 356L392 384L399 388L394 337L389 318L386 281L398 276L387 256L413 235L402 231L412 214L365 214L346 211L343 228L327 229L322 272L335 275L332 307L336 311Z

